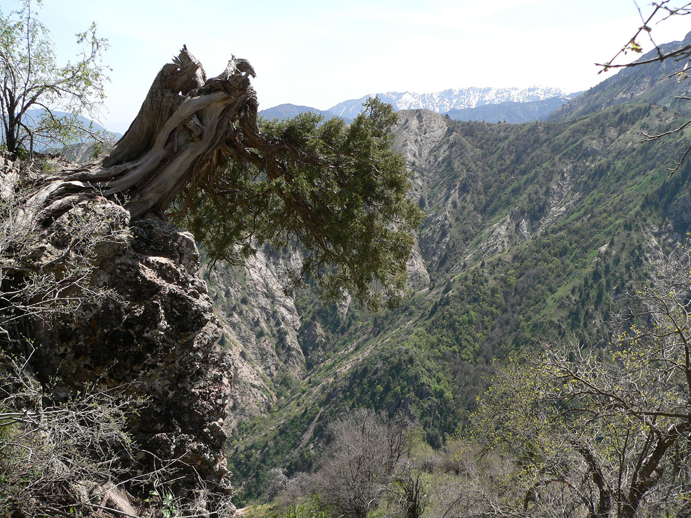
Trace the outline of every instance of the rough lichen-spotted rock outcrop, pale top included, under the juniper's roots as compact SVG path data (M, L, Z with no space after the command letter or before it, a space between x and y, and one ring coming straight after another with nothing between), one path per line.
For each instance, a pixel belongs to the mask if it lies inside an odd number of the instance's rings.
M50 320L29 312L3 349L24 355L45 405L114 387L144 401L127 416L134 442L119 461L125 472L137 477L165 467L160 482L193 502L190 512L228 511L224 421L234 365L216 345L220 324L198 277L191 234L153 217L131 222L122 207L97 198L41 231L26 268L47 274L50 265L70 260L79 246L70 236L75 222L102 236L88 258L90 285L100 296L85 294L82 305Z

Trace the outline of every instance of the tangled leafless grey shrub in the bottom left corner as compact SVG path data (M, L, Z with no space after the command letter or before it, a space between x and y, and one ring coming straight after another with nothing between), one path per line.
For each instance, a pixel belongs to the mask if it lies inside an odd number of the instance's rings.
M122 457L133 451L126 416L142 401L126 387L44 407L41 386L26 363L4 354L0 361L0 515L93 510L92 503L104 506L106 493L117 492L119 484L113 481L138 481L124 468Z

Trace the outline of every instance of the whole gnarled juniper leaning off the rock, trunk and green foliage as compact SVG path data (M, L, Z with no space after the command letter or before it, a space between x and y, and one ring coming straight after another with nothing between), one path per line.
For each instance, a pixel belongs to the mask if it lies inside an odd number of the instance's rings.
M260 127L248 67L233 57L207 79L183 48L111 152L35 179L23 218L45 226L104 197L133 220L168 213L214 260L241 261L263 242L300 243L307 253L295 282L310 274L327 297L350 291L373 308L395 303L420 211L390 148L392 108L370 99L350 126L302 115Z

